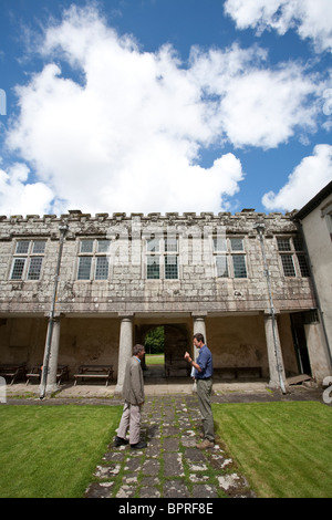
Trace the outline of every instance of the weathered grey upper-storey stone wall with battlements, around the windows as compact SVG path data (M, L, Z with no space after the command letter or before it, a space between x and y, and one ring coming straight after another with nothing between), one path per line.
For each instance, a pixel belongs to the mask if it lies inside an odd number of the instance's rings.
M59 250L59 225L66 222L56 311L64 314L117 315L118 312L252 312L269 308L262 254L255 225L264 223L264 245L277 311L315 306L310 279L284 278L276 236L294 236L297 226L281 214L97 214L70 211L61 217L0 217L0 312L45 315L50 311ZM178 237L179 278L147 280L145 239ZM241 237L248 278L216 278L211 236ZM142 239L143 237L143 239ZM10 280L15 241L46 240L41 279ZM79 241L112 240L107 281L77 280ZM128 254L127 254L128 253Z

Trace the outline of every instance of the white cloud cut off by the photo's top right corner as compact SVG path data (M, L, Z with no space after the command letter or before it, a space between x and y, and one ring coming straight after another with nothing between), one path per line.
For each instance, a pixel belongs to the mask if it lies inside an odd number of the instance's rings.
M284 34L294 28L301 39L311 39L315 50L332 50L331 0L227 0L225 12L238 29L274 29Z

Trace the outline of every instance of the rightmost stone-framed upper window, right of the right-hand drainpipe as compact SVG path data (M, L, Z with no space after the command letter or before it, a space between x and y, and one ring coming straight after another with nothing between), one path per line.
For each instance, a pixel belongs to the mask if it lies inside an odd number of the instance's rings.
M309 258L302 238L298 235L280 235L276 237L276 242L281 275L310 278Z

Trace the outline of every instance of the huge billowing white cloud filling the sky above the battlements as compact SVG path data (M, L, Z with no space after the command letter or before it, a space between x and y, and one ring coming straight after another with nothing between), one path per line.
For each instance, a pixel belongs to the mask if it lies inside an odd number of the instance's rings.
M54 212L219 211L241 163L227 154L205 168L201 149L276 147L315 127L318 79L293 63L268 69L256 46L193 49L185 66L169 45L143 52L94 9L71 8L41 49L49 63L17 89L7 143L52 190Z

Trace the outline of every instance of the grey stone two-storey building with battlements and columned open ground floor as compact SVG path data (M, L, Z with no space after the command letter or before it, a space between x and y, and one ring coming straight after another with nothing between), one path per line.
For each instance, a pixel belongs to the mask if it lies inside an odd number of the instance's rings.
M58 273L60 272L60 277ZM330 373L309 262L289 215L97 214L0 217L0 363L112 364L165 332L165 375L186 376L203 332L216 377L281 389Z

